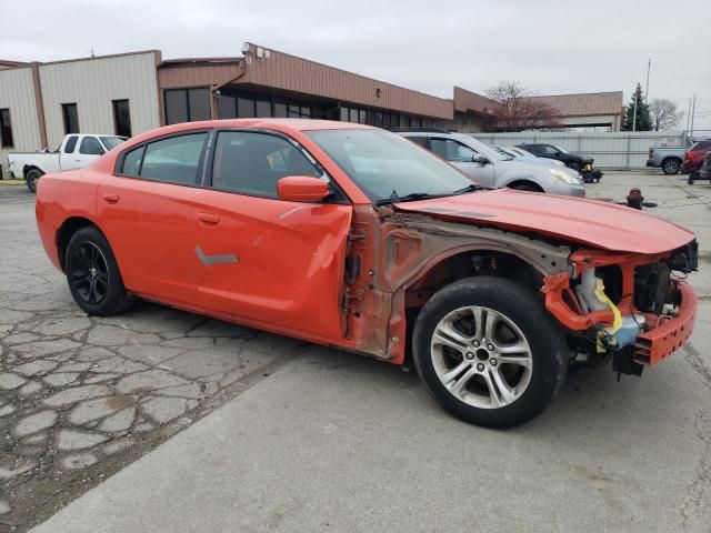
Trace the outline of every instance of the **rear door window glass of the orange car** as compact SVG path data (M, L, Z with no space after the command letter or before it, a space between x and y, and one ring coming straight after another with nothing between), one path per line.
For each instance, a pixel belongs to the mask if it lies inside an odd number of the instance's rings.
M120 173L168 183L194 184L207 133L190 133L151 142L123 157Z

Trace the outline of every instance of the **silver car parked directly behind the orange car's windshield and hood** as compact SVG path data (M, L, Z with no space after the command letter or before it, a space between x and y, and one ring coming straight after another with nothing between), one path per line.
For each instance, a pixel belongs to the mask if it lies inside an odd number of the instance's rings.
M554 165L542 168L511 155L501 155L471 135L428 130L400 130L398 134L434 152L483 187L585 195L580 177Z

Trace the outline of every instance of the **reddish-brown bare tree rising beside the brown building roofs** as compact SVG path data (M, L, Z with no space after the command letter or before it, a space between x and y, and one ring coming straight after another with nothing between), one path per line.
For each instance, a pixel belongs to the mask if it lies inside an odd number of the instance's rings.
M557 110L533 97L518 81L501 81L489 88L487 97L499 103L491 124L497 131L554 130L561 123Z

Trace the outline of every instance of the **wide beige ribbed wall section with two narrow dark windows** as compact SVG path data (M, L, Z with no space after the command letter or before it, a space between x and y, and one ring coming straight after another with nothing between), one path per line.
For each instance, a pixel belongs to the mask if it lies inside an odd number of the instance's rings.
M42 64L39 68L47 141L64 137L61 104L77 103L81 133L114 133L112 100L129 100L136 135L160 125L157 52Z

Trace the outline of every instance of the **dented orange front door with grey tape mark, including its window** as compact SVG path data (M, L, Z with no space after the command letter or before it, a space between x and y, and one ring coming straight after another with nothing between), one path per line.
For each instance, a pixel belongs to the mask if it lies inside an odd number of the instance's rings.
M256 131L220 131L211 188L196 213L200 308L294 334L344 332L344 255L352 208L280 200L287 175L329 180L293 141Z

